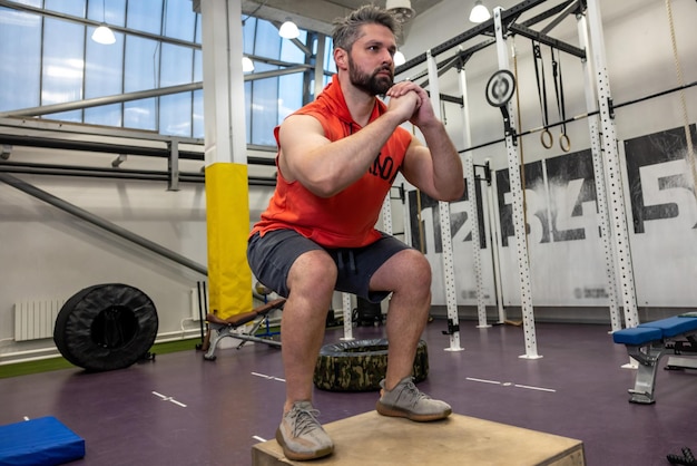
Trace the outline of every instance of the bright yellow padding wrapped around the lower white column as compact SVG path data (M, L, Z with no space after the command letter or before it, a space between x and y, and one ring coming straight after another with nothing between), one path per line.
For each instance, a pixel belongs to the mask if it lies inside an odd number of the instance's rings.
M252 309L247 165L215 163L206 167L206 212L208 309L227 319Z

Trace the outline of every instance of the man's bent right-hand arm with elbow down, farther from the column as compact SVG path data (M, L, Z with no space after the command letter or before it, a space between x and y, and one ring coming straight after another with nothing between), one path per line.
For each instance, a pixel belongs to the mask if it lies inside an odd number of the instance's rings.
M397 88L391 98L402 93L415 91L421 105L410 122L423 134L426 146L413 138L402 167L404 177L414 186L438 201L455 201L464 192L462 162L443 124L435 117L425 90L415 84Z

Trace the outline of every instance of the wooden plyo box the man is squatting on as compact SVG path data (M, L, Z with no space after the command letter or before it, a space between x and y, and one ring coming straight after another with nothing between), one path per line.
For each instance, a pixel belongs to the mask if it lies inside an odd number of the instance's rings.
M376 411L324 426L334 454L310 462L345 466L585 466L583 444L468 416L413 423ZM252 447L254 466L305 465L283 455L276 440Z

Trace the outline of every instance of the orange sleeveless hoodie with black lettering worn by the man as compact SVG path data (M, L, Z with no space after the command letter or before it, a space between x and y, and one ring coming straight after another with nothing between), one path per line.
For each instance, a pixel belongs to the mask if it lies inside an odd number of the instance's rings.
M370 122L385 111L385 104L376 100ZM336 75L315 101L293 115L315 117L330 140L361 130L348 113ZM274 136L278 144L278 127ZM263 236L269 231L289 229L325 247L360 247L375 242L381 237L375 223L411 139L406 129L397 127L363 177L327 198L312 194L297 181L288 183L278 169L276 190L251 235L259 232Z

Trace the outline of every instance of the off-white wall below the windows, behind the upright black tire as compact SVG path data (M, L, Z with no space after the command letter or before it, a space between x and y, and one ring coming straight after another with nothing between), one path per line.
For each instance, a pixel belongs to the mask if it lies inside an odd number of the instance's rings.
M137 145L138 142L131 142ZM268 154L253 154L268 156ZM9 162L110 168L112 154L12 147ZM199 172L203 162L180 161L180 172ZM164 158L129 156L121 169L166 171ZM274 168L249 166L255 176ZM206 197L203 183L13 174L39 190L206 268ZM269 187L249 188L253 217L268 201ZM98 283L125 283L155 303L158 339L195 337L198 308L190 292L205 276L109 233L10 185L0 183L0 365L55 353L50 339L14 342L14 303L68 300ZM46 351L45 351L46 350Z

